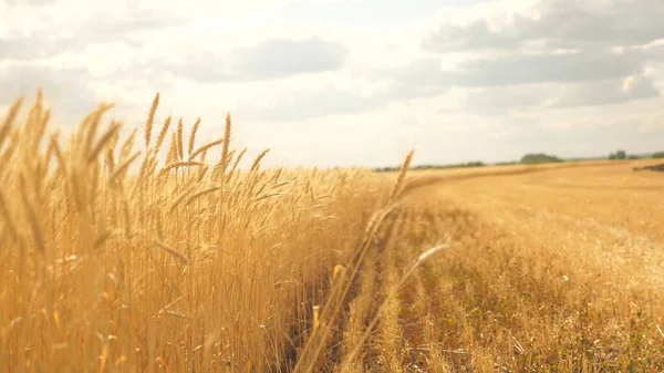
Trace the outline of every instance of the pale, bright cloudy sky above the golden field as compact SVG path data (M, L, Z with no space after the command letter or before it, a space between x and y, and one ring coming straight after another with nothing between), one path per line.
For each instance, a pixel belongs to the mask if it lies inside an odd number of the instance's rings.
M0 0L0 113L101 102L271 166L664 151L662 0Z

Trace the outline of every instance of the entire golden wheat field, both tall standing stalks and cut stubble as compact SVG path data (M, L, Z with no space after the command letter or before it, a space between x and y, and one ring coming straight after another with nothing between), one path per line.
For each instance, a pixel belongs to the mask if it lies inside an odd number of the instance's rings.
M644 162L262 169L158 101L0 117L0 372L664 370Z

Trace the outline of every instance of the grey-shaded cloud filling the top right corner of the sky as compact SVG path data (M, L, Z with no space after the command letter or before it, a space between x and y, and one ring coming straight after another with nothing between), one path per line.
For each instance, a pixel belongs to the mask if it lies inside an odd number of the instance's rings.
M658 0L497 1L453 12L426 39L437 52L468 49L518 49L529 42L549 46L640 45L664 35L664 3ZM516 6L516 7L513 7ZM470 18L471 17L471 18ZM470 18L470 20L468 20Z

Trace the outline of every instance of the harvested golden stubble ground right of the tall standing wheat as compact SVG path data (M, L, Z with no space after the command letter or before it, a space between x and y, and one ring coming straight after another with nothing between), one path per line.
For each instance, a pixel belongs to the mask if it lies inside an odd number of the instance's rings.
M662 371L664 183L627 170L412 185L367 253L326 370L384 303L345 371Z

